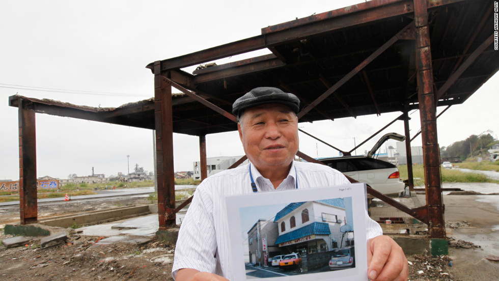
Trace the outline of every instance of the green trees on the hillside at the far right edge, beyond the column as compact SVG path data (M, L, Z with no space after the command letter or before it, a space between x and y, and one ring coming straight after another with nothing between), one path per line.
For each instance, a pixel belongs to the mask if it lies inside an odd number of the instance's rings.
M488 149L499 144L499 141L487 130L479 135L470 135L463 141L453 143L448 147L440 147L440 157L459 157L461 161L469 157L488 157Z

